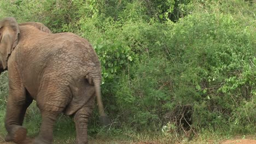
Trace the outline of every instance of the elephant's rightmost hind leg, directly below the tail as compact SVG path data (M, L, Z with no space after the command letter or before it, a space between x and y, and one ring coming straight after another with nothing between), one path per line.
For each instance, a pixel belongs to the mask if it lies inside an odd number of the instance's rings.
M76 144L88 143L88 118L92 113L94 107L94 97L74 115L75 130L77 132Z

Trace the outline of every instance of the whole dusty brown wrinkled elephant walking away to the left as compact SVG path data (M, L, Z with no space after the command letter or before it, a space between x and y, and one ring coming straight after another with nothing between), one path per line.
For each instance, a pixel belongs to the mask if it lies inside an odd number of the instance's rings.
M27 143L22 123L27 107L36 100L42 124L32 143L52 143L53 125L61 112L74 116L76 143L88 143L95 95L101 118L108 122L98 57L87 40L73 33L52 34L40 26L19 26L12 17L0 21L0 71L9 71L5 140Z

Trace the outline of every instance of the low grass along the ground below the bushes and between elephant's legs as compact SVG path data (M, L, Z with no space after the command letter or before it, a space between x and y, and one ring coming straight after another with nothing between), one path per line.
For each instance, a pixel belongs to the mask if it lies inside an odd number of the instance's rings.
M32 103L28 109L25 118L25 127L28 129L28 136L35 137L39 133L40 116L37 115L38 109L35 103ZM6 131L4 128L5 109L0 109L0 141L4 140ZM232 139L253 139L256 135L230 135L224 131L203 130L193 139L184 135L176 136L174 133L162 133L162 131L142 131L135 132L131 129L104 129L89 125L89 142L90 143L220 143L224 140ZM61 115L54 127L54 143L71 144L75 143L75 127L72 118Z

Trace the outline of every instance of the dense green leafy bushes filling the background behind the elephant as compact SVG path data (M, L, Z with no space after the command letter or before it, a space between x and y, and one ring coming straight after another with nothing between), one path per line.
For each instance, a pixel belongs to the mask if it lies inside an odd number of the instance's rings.
M73 32L94 46L112 125L99 127L95 111L92 137L107 131L137 139L152 131L147 134L169 143L203 133L256 133L254 1L16 0L0 2L0 11L19 22L43 22L54 33ZM7 73L0 79L4 111ZM65 138L74 125L61 117L55 135ZM39 119L32 105L25 122L31 134Z

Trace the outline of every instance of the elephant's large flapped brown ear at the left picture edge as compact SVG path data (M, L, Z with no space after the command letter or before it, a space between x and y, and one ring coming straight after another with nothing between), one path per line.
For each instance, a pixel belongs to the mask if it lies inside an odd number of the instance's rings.
M13 17L0 21L0 60L3 69L7 68L7 60L14 47L18 45L19 25Z

